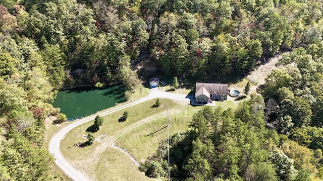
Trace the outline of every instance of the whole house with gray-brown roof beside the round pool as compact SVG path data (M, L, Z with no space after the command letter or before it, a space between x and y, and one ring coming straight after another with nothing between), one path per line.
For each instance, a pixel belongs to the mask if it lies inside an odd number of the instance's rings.
M195 102L207 104L209 100L224 101L227 100L229 87L226 83L204 83L195 84Z

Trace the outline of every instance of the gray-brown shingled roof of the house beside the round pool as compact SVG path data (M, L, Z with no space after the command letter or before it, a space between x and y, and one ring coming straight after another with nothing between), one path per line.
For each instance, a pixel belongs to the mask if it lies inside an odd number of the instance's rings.
M196 82L195 95L202 87L204 87L206 89L206 91L210 94L217 93L217 94L221 94L221 95L228 95L228 91L229 91L229 86L227 83Z

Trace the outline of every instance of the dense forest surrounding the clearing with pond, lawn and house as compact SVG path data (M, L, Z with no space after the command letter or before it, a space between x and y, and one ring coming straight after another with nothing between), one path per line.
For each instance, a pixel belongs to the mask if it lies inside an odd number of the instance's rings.
M206 108L172 137L172 178L322 178L322 12L319 0L0 0L1 180L60 179L43 143L58 89L218 79L283 51L263 98ZM157 152L142 169L164 177L165 164Z

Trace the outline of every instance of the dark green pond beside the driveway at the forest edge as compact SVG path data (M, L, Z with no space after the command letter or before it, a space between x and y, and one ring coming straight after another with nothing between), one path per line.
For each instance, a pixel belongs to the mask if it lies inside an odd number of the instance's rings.
M126 101L125 88L112 86L106 89L91 87L74 88L60 91L53 106L61 108L68 120L85 117Z

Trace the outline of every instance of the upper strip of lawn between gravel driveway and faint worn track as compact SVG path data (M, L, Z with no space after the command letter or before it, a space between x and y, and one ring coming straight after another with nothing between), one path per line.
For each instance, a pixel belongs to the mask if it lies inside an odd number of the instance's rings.
M145 103L135 105L123 109L121 111L115 112L113 114L104 116L103 125L100 126L100 129L97 132L93 133L93 135L95 136L95 138L102 134L105 134L109 137L119 137L122 133L122 130L129 128L130 125L135 124L136 122L139 122L151 115L166 112L166 107L164 109L151 108L154 103L155 100L147 101ZM176 103L172 100L161 100L161 103L163 105L168 105L170 109L176 106ZM119 118L122 117L125 111L129 112L129 118L124 122L119 122ZM93 124L94 120L74 128L62 140L61 151L66 158L70 160L79 160L80 158L83 159L84 157L89 155L89 153L92 151L92 149L95 148L95 146L101 144L95 141L93 145L87 146L82 149L78 148L77 146L74 146L78 142L86 141L86 139L83 138L83 134L87 136L88 132L86 132L86 130Z

